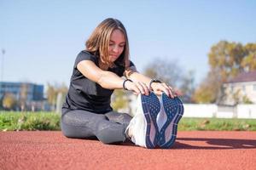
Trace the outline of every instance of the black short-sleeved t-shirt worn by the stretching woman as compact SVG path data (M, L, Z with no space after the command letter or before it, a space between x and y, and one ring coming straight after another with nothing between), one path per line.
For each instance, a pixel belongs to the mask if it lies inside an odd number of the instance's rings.
M110 106L110 97L113 90L102 88L98 83L90 81L87 77L78 70L77 65L82 60L90 60L99 66L98 59L95 55L87 51L81 51L74 63L73 74L71 77L69 89L66 100L62 106L65 111L84 110L99 114L112 111ZM130 66L133 63L130 62ZM122 65L115 65L113 68L108 68L119 77L122 77L125 67Z

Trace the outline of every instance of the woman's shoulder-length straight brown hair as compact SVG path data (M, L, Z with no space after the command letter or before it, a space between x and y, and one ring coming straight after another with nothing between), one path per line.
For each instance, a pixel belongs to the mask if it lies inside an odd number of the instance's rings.
M113 65L113 63L108 59L108 44L111 33L116 29L122 31L125 36L125 48L122 54L120 54L119 58L115 61L115 64L123 65L125 68L127 68L130 65L129 42L125 26L123 26L119 20L112 18L103 20L86 41L86 50L95 54L96 56L99 56L103 63L109 66Z

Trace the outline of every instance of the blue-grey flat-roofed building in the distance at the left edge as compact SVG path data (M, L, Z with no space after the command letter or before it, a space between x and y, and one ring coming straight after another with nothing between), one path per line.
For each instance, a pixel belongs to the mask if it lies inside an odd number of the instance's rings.
M40 101L44 99L44 85L29 82L0 82L0 99L4 94L14 94L17 100Z

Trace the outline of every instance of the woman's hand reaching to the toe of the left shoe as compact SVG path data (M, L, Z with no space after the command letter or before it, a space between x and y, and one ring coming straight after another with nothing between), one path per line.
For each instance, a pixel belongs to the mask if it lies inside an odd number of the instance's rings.
M149 94L149 89L144 82L125 82L125 88L133 91L134 94Z

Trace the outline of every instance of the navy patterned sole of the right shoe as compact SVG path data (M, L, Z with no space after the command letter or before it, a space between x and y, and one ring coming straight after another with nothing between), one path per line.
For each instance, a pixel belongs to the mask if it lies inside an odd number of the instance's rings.
M161 100L166 113L166 123L160 130L159 144L161 148L171 148L174 144L177 136L177 123L183 116L183 103L180 99L175 97L174 99L169 98L166 94L162 94ZM169 131L170 133L166 132ZM167 139L166 139L167 135Z

